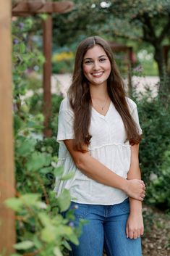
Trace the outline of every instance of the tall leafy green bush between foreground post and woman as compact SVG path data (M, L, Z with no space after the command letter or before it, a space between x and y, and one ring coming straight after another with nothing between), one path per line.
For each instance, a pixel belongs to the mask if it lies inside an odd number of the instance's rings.
M21 19L22 20L22 19ZM18 255L66 255L69 241L78 244L81 226L74 226L74 209L66 218L61 212L70 205L69 191L64 190L56 199L54 176L61 180L62 168L57 168L58 145L56 138L43 138L42 96L27 99L29 87L27 70L33 65L43 65L44 58L37 46L27 47L27 34L33 30L33 19L25 18L13 22L13 81L14 81L14 147L15 178L17 196L8 199L6 204L16 212ZM33 43L35 44L35 43ZM37 81L33 81L33 88ZM53 112L56 116L51 124L57 128L57 114L62 96L53 96ZM57 130L57 129L56 129ZM56 135L56 131L55 131ZM71 221L71 222L70 222Z

